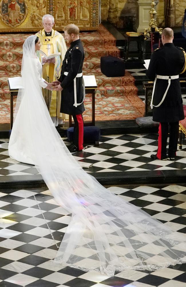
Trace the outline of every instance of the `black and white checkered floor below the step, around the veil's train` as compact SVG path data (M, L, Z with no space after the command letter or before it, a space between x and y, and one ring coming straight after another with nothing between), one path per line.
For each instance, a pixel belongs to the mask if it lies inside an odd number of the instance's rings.
M127 155L130 156L130 153ZM16 171L17 168L14 168L14 172ZM112 187L111 192L116 192L116 188ZM141 207L173 230L186 233L185 185L164 185L161 189L124 186L117 187L117 194ZM53 259L58 250L56 244L60 245L69 221L70 214L54 201L47 189L1 191L0 286L185 287L186 263L155 272L146 270L116 272L114 277L104 276L98 272L83 272L70 267L63 268L60 264L54 264Z

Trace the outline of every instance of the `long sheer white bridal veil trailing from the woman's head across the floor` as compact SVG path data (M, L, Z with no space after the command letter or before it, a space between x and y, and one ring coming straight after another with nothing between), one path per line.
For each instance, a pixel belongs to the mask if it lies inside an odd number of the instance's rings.
M32 37L32 38L30 38ZM186 236L125 202L87 174L69 153L43 100L35 37L23 45L22 78L9 154L29 154L58 204L72 213L55 261L113 276L186 262Z

